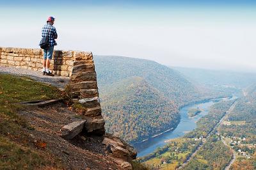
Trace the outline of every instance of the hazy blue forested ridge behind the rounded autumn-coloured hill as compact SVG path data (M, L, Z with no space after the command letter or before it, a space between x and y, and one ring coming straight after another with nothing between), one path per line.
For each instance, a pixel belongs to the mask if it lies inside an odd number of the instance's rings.
M120 56L95 56L94 60L100 90L106 85L138 76L179 105L201 97L199 90L179 72L155 61Z

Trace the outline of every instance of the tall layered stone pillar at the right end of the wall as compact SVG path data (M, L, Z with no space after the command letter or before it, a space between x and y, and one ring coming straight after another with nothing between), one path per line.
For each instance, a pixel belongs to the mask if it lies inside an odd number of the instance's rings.
M105 121L101 115L97 75L92 52L76 52L70 77L70 93L74 102L81 104L86 116L84 130L87 133L105 134Z

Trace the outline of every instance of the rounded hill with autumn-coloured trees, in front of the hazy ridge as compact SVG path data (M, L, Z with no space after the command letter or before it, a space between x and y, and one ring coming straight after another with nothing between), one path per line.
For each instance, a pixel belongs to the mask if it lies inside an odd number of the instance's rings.
M102 90L106 128L131 143L179 121L177 107L141 77L129 77Z

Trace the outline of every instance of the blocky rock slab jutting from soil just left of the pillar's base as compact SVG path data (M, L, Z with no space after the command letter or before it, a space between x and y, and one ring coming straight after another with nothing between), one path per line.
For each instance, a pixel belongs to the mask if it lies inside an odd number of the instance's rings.
M64 139L73 139L76 135L80 134L83 131L85 120L74 121L68 125L65 125L61 128L61 137Z

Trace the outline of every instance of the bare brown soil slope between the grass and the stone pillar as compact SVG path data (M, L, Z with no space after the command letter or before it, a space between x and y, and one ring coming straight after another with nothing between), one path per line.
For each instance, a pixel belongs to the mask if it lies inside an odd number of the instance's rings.
M28 134L35 141L45 143L45 148L41 149L58 158L65 169L118 169L102 144L102 136L81 134L70 141L60 137L61 127L81 120L64 104L28 108L20 114L35 128L26 129Z

